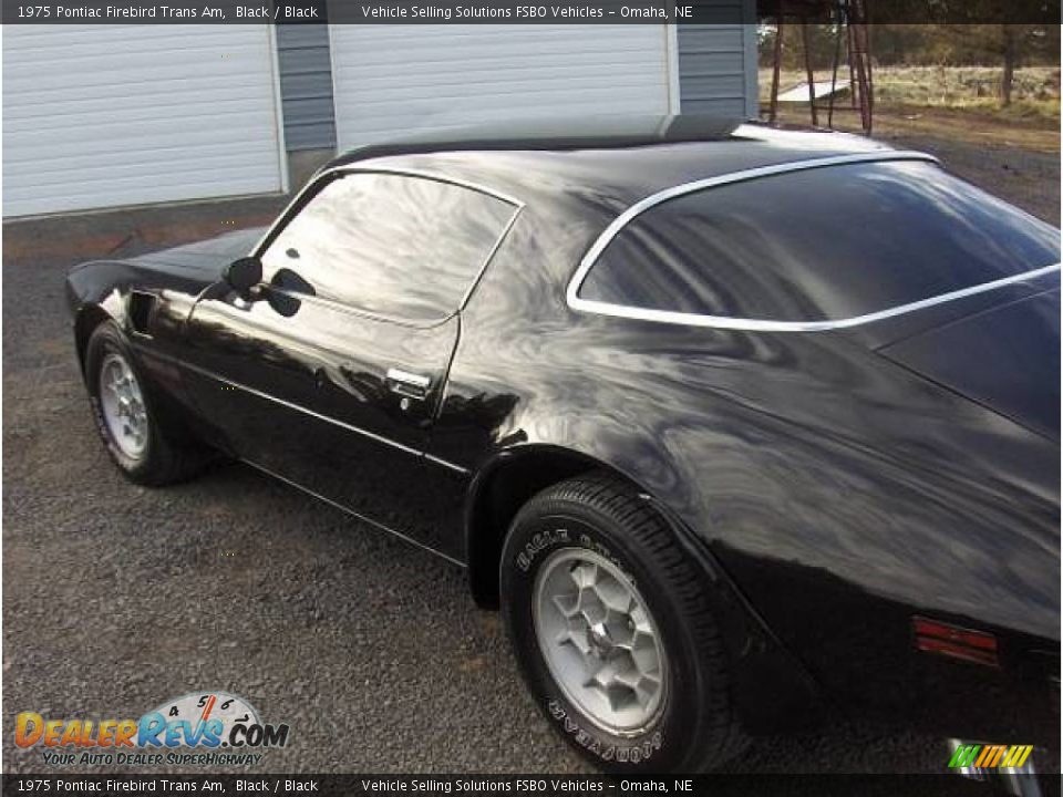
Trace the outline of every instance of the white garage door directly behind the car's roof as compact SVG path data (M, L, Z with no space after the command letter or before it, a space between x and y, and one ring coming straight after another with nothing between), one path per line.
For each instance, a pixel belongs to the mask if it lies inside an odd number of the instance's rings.
M677 91L664 25L333 25L331 37L341 149L515 116L662 114Z

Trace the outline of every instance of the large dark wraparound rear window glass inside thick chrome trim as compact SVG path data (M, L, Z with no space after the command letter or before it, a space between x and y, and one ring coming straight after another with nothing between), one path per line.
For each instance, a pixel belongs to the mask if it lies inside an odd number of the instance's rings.
M933 164L731 183L636 216L578 297L767 321L835 321L1050 266L1060 234Z

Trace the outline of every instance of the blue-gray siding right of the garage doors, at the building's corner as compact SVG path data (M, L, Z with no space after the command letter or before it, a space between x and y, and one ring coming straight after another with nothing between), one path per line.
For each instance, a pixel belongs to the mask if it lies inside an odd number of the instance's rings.
M720 23L679 25L680 108L691 114L754 117L757 86L753 0L714 0L713 6Z

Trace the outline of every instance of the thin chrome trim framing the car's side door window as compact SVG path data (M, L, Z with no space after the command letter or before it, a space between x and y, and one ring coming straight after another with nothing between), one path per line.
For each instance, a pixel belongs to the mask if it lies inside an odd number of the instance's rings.
M262 253L266 251L266 248L272 244L274 238L277 235L280 235L281 230L298 215L298 211L302 209L303 204L310 201L313 198L313 195L319 190L318 186L326 182L331 182L332 176L337 174L384 174L384 175L394 175L398 177L413 177L415 179L426 179L433 183L444 183L446 185L456 186L458 188L465 188L467 190L475 192L477 194L484 194L499 201L512 205L514 210L509 215L509 220L503 225L502 229L498 232L498 237L495 238L495 242L487 250L487 255L484 257L484 261L475 270L473 278L469 280L468 284L465 288L465 291L462 293L462 298L457 303L457 307L452 310L448 314L443 315L437 319L432 319L430 321L413 321L410 319L402 319L392 315L386 315L384 313L378 313L365 308L360 308L357 304L349 304L347 302L338 300L327 300L331 303L339 304L342 307L350 308L355 311L359 315L364 315L370 319L378 321L389 321L392 323L400 323L409 327L415 327L419 329L429 329L436 327L444 321L453 318L456 313L465 309L465 306L468 303L468 300L472 298L473 292L476 290L476 286L479 284L481 279L483 279L484 273L487 271L487 267L491 265L491 261L494 260L495 253L498 249L502 248L502 245L505 242L506 237L509 235L509 230L513 229L513 226L517 222L517 218L520 216L520 211L524 210L526 204L516 197L513 197L503 192L496 190L491 186L483 185L482 183L474 183L473 180L466 180L457 177L446 177L444 175L432 174L431 172L424 172L421 169L413 168L402 168L402 167L389 167L389 166L360 166L357 164L345 164L343 166L333 166L327 168L323 172L317 174L313 179L309 180L307 185L292 198L291 201L285 206L285 209L280 211L274 222L269 226L266 232L261 238L258 239L258 242L251 248L250 257L261 258ZM287 293L287 291L283 291ZM302 294L291 294L293 298L302 299ZM322 299L323 300L323 299Z

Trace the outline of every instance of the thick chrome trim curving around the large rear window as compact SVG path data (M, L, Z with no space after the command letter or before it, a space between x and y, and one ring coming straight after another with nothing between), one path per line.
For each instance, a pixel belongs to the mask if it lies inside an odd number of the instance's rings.
M933 307L935 304L941 304L956 299L984 293L987 291L1003 288L1015 282L1035 279L1043 275L1060 270L1061 263L1053 263L1051 266L1033 269L1032 271L1025 271L1021 275L1012 275L1011 277L1004 277L991 282L983 282L981 284L971 286L970 288L950 291L948 293L930 297L928 299L921 299L915 302L908 302L907 304L887 308L885 310L867 313L865 315L836 319L830 321L774 321L771 319L745 319L732 318L729 315L703 315L700 313L677 312L671 310L652 310L648 308L629 307L626 304L612 304L610 302L581 299L578 296L579 289L582 287L587 273L594 267L602 251L605 251L606 247L609 246L612 239L620 232L620 230L630 224L632 219L637 218L650 208L668 201L669 199L674 199L675 197L693 194L706 188L714 188L721 185L742 183L745 180L757 179L760 177L787 174L791 172L804 172L807 169L842 166L846 164L896 161L920 161L940 165L938 158L933 157L932 155L915 151L857 153L852 155L811 158L807 161L794 161L791 163L775 164L772 166L760 166L756 168L743 169L741 172L732 172L731 174L719 175L716 177L708 177L705 179L693 180L691 183L683 183L681 185L672 186L671 188L665 188L656 194L651 194L620 214L609 224L608 227L606 227L605 231L598 236L590 249L587 250L587 253L584 256L582 260L580 260L579 268L576 269L576 273L574 273L572 278L569 280L568 288L565 293L566 302L569 308L576 311L595 313L599 315L634 319L640 321L680 324L685 327L704 327L712 329L741 330L747 332L825 332L829 330L848 329L852 327L873 323L875 321L881 321L895 315L901 315L904 313L915 312L916 310Z

